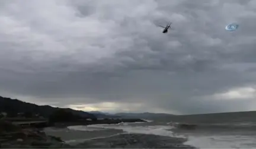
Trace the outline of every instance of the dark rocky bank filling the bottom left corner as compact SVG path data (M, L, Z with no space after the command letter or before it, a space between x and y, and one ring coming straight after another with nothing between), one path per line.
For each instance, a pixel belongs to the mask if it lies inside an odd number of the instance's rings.
M7 121L0 121L1 149L71 148L60 138L46 135L36 128L22 129Z

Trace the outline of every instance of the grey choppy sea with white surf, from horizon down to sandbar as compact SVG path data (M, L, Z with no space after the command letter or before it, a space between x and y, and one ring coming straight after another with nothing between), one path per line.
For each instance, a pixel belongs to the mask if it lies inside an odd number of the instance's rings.
M182 124L196 127L184 129L180 127ZM152 118L147 122L71 126L68 129L182 137L187 140L185 145L200 149L256 149L256 112L171 116Z

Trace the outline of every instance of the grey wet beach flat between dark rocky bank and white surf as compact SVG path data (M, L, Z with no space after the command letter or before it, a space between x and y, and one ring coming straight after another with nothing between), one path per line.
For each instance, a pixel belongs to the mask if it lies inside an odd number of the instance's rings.
M164 137L151 134L129 134L119 130L75 131L46 129L46 134L61 137L73 148L82 149L195 149L184 145L184 138Z

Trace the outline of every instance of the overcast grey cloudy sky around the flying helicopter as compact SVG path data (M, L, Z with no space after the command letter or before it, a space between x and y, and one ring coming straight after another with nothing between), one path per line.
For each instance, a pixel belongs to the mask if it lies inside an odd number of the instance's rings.
M256 0L1 1L0 95L84 111L256 110L255 20Z

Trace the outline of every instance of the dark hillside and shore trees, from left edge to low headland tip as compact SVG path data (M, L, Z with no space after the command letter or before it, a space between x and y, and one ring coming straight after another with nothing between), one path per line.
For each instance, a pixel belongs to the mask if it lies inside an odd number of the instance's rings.
M97 119L97 116L100 118ZM104 118L105 117L105 118ZM48 121L47 126L118 124L120 122L145 122L139 118L120 118L116 115L91 114L70 108L36 105L18 99L0 96L0 119L8 121ZM40 121L41 121L40 120ZM45 125L46 126L46 125Z

